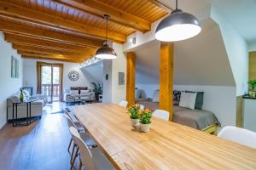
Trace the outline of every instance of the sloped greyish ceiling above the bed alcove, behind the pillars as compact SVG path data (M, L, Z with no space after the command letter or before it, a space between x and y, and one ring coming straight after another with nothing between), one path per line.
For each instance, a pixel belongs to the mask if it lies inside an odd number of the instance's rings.
M202 21L199 36L174 43L174 84L236 86L218 25ZM136 83L158 84L160 42L154 40L135 48Z

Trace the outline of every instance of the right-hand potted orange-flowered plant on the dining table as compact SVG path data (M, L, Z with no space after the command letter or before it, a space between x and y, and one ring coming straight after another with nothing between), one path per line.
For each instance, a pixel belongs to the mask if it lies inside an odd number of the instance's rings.
M139 118L140 118L140 127L141 131L144 133L149 132L150 129L150 119L152 117L152 111L150 109L146 109L144 111L139 111Z

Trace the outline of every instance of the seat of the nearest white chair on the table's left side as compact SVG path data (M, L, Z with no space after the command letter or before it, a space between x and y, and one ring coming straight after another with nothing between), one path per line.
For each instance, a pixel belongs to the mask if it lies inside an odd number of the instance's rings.
M94 163L96 170L113 170L113 165L108 161L108 158L104 156L102 150L98 147L90 149L90 154L94 157Z

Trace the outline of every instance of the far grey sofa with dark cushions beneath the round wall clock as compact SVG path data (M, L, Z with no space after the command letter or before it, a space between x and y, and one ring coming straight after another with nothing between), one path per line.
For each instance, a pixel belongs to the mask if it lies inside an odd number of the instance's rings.
M64 90L63 100L67 103L79 103L95 100L95 93L87 87L72 87Z

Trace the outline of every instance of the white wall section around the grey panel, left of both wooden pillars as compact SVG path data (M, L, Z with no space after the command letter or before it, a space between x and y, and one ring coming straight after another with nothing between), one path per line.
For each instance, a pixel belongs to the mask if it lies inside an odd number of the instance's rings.
M126 57L123 45L113 42L112 48L117 54L117 59L104 60L103 62L103 102L118 104L126 98ZM119 72L125 72L125 84L118 85ZM108 81L105 75L108 73Z

